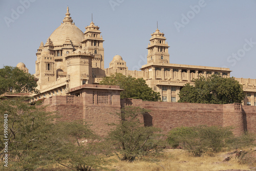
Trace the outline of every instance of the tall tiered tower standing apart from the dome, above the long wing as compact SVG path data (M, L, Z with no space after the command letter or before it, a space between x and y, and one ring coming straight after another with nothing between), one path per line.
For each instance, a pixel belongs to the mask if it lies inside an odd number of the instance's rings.
M169 63L168 44L164 34L158 28L151 34L150 43L147 46L147 63Z

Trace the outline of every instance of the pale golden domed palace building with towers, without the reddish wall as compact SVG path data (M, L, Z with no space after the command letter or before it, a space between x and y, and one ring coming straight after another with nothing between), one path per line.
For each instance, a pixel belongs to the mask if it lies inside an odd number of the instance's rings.
M74 88L83 84L98 84L103 77L114 73L143 78L154 91L159 92L162 101L177 102L179 91L186 83L199 76L209 77L220 74L230 77L228 68L180 65L170 63L168 44L164 34L157 28L151 34L147 46L147 64L141 71L130 71L120 55L113 57L110 66L104 69L103 38L98 26L93 22L85 27L83 33L73 23L67 8L63 23L53 31L44 44L41 42L36 53L37 89L40 94L33 94L34 100L53 96L74 95ZM18 68L28 72L24 63ZM246 92L243 105L256 105L256 79L235 78Z

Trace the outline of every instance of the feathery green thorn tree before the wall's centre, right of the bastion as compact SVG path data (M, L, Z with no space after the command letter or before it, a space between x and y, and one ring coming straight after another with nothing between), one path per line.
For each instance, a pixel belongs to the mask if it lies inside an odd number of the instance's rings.
M160 140L160 129L153 126L144 126L140 121L145 109L127 106L117 115L119 123L112 123L114 129L109 134L109 140L117 145L117 151L121 154L121 160L134 161L136 157L146 155L156 150Z

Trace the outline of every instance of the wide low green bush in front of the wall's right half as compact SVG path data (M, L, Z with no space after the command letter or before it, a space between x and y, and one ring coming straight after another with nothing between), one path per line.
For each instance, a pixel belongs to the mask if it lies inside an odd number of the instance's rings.
M210 150L215 153L221 151L232 135L230 127L177 127L169 132L167 141L173 147L180 145L194 156L200 157Z

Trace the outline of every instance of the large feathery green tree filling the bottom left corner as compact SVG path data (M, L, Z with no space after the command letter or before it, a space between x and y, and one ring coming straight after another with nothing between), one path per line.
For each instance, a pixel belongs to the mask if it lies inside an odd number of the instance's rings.
M0 122L6 125L6 130L0 130L0 155L3 160L8 154L8 168L11 170L32 170L52 163L53 159L50 141L54 132L54 125L50 122L52 116L24 101L25 97L0 101ZM8 153L4 142L8 143Z

